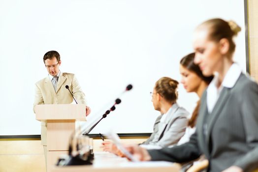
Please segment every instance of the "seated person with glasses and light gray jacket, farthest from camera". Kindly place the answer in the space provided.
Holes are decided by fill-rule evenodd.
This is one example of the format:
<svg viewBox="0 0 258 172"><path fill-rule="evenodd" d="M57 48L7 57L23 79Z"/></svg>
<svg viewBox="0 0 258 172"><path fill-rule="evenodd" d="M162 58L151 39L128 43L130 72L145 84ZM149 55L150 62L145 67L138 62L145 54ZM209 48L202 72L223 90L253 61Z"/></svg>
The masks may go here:
<svg viewBox="0 0 258 172"><path fill-rule="evenodd" d="M176 103L178 84L176 80L162 77L156 82L153 91L150 92L153 107L161 115L154 123L154 132L148 140L141 144L142 147L159 149L172 146L178 143L185 134L189 113ZM104 151L123 156L123 153L109 141L104 141L102 147Z"/></svg>

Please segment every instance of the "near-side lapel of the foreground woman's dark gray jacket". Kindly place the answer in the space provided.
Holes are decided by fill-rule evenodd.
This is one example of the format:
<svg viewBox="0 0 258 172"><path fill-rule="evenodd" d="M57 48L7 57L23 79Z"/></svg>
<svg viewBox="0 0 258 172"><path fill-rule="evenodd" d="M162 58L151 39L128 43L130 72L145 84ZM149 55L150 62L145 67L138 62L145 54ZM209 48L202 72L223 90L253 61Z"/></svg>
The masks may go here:
<svg viewBox="0 0 258 172"><path fill-rule="evenodd" d="M224 105L226 104L226 101L229 97L230 94L230 89L223 87L220 97L217 100L211 114L209 114L208 119L207 119L207 143L210 141L210 134L211 134L211 129L216 121L216 119L219 117L221 114L222 109L224 108ZM209 145L209 144L207 144Z"/></svg>

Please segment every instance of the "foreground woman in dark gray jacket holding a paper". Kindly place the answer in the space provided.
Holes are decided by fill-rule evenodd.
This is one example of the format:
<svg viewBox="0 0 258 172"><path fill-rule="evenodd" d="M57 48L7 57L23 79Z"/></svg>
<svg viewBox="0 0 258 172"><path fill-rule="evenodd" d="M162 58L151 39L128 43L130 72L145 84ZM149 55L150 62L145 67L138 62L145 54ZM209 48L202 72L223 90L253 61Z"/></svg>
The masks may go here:
<svg viewBox="0 0 258 172"><path fill-rule="evenodd" d="M194 63L214 78L203 92L196 131L188 143L146 150L129 146L142 161L184 163L201 154L208 172L252 172L258 168L258 84L233 61L234 36L240 27L211 19L194 31Z"/></svg>

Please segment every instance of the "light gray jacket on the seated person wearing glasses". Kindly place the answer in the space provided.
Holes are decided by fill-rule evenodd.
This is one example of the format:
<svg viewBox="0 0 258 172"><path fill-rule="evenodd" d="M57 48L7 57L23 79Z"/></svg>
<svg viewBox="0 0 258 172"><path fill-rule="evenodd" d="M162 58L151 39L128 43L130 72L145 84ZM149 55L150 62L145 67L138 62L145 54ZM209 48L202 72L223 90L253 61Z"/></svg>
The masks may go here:
<svg viewBox="0 0 258 172"><path fill-rule="evenodd" d="M164 125L161 126L160 115L154 125L154 133L143 144L153 144L165 147L177 143L185 134L188 124L189 113L177 103L173 104L169 114L164 119ZM162 135L162 136L161 136Z"/></svg>

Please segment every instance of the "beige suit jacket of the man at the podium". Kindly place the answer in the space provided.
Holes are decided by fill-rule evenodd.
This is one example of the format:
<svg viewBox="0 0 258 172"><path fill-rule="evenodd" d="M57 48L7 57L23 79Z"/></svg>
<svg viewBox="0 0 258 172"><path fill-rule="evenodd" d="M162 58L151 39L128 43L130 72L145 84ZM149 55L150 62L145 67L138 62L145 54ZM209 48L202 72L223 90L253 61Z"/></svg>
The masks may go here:
<svg viewBox="0 0 258 172"><path fill-rule="evenodd" d="M35 98L33 111L35 113L35 105L38 104L70 104L73 98L65 86L69 86L70 91L78 104L85 104L85 95L79 86L78 80L74 74L62 73L58 79L57 91L55 91L49 77L38 81L35 84ZM47 145L46 140L47 123L41 122L41 143Z"/></svg>

